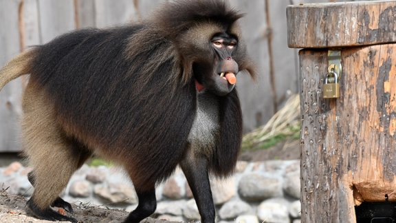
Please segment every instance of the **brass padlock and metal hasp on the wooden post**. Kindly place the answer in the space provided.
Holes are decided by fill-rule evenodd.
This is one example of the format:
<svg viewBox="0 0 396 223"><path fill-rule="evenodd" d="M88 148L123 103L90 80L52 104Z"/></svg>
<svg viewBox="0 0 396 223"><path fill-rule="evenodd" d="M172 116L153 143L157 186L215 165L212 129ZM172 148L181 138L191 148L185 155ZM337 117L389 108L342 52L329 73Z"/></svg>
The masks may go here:
<svg viewBox="0 0 396 223"><path fill-rule="evenodd" d="M340 97L340 77L342 73L341 50L329 50L329 67L323 84L323 98Z"/></svg>

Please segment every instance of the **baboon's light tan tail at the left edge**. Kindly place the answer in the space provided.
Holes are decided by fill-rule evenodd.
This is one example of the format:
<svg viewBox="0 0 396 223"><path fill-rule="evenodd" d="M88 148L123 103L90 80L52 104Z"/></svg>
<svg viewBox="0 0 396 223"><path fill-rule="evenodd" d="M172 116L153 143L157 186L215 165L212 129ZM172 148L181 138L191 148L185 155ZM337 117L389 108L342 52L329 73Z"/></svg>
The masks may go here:
<svg viewBox="0 0 396 223"><path fill-rule="evenodd" d="M0 90L8 82L14 80L15 78L22 76L23 74L30 73L30 63L34 59L34 53L36 50L27 50L17 57L8 62L0 70Z"/></svg>

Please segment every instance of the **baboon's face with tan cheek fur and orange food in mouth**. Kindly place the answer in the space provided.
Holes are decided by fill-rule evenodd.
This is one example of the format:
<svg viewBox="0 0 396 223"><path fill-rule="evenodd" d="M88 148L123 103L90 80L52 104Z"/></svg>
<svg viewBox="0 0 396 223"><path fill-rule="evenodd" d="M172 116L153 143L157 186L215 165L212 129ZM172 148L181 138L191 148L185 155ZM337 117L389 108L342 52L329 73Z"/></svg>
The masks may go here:
<svg viewBox="0 0 396 223"><path fill-rule="evenodd" d="M232 92L237 74L246 69L245 47L239 36L236 23L224 26L213 22L200 23L180 35L179 52L185 61L192 63L198 92L208 91L218 96Z"/></svg>

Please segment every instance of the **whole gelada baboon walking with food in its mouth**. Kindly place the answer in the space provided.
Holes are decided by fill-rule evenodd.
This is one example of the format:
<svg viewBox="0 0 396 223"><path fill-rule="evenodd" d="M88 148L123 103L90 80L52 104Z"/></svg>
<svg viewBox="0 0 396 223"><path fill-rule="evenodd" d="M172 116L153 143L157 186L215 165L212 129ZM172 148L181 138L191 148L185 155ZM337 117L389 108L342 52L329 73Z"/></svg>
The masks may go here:
<svg viewBox="0 0 396 223"><path fill-rule="evenodd" d="M25 153L34 167L27 209L44 220L72 217L58 197L92 154L117 162L139 204L126 222L155 211L155 186L177 165L202 222L214 222L208 174L232 173L241 144L236 76L254 68L223 1L172 1L140 23L70 32L0 70L0 88L30 74L23 96Z"/></svg>

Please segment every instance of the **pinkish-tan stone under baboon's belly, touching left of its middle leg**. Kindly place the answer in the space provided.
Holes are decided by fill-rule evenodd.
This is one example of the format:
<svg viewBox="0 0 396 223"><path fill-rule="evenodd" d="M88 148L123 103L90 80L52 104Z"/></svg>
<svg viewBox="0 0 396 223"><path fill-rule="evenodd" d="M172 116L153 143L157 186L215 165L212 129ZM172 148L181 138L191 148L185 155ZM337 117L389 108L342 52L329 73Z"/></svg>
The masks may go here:
<svg viewBox="0 0 396 223"><path fill-rule="evenodd" d="M122 183L109 184L108 186L96 185L94 193L99 198L109 200L113 203L137 203L135 189Z"/></svg>

